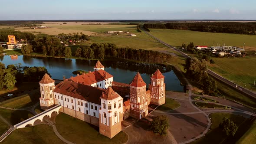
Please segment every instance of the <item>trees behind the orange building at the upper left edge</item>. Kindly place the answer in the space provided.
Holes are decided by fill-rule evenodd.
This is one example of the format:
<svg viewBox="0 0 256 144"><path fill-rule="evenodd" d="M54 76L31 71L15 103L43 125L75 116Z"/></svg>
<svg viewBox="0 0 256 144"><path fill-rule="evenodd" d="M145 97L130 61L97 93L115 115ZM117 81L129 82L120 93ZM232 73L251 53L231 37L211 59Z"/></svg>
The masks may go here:
<svg viewBox="0 0 256 144"><path fill-rule="evenodd" d="M16 40L26 39L28 41L33 40L36 36L33 33L15 31L13 29L0 29L0 42L7 42L8 35L14 35Z"/></svg>

